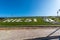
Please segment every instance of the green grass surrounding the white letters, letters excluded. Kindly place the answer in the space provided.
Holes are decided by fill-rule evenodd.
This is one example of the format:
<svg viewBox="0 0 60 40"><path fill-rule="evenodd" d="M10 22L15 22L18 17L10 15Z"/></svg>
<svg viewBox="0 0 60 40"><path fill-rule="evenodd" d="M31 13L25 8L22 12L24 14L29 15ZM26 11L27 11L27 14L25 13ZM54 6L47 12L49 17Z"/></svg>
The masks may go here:
<svg viewBox="0 0 60 40"><path fill-rule="evenodd" d="M0 20L0 26L21 26L21 25L59 25L59 24L53 24L53 23L49 23L49 22L45 22L43 19L43 17L13 17L12 19L23 19L25 20L26 18L30 18L30 19L33 19L33 18L36 18L37 19L37 22L3 22L4 20L6 19L11 19L11 18L5 18L3 20ZM57 18L54 18L54 17L48 17L48 18L51 18L53 20L57 20ZM60 17L58 17L58 22L60 22Z"/></svg>

